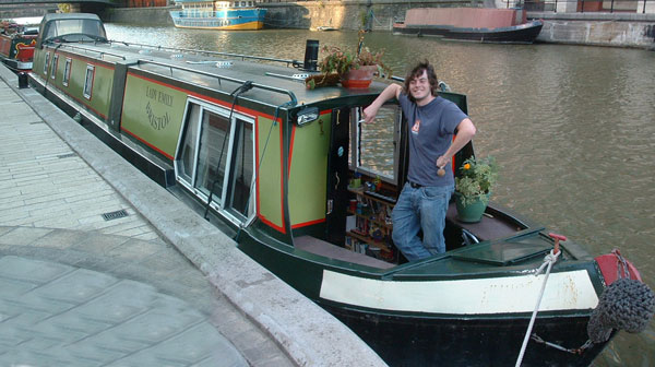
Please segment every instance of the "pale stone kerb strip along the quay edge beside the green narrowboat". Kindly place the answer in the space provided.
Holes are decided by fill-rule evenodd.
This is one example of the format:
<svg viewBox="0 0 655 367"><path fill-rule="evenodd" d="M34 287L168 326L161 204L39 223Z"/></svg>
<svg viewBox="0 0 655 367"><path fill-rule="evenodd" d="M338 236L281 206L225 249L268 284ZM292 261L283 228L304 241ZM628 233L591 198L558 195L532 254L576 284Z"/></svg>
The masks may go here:
<svg viewBox="0 0 655 367"><path fill-rule="evenodd" d="M385 366L352 330L236 248L236 242L17 78L0 78L94 170L300 366ZM126 179L129 178L129 179Z"/></svg>

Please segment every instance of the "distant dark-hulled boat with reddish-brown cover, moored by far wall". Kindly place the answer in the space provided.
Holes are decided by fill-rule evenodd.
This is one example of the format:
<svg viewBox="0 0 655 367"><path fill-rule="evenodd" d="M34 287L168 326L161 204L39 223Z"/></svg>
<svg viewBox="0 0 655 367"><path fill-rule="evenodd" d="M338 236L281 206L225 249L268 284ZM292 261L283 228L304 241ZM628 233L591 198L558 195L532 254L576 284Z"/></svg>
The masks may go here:
<svg viewBox="0 0 655 367"><path fill-rule="evenodd" d="M449 40L532 44L544 22L527 22L522 9L417 8L393 25L395 35L436 36Z"/></svg>

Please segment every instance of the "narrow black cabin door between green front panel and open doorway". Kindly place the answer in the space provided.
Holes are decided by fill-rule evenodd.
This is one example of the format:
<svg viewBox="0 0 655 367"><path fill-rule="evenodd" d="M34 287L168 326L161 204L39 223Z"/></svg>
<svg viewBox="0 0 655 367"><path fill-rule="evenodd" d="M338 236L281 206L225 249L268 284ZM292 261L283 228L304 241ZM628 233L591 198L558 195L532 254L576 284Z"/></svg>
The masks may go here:
<svg viewBox="0 0 655 367"><path fill-rule="evenodd" d="M348 205L348 144L350 109L332 110L330 151L327 153L327 213L325 238L344 246L346 237L346 206Z"/></svg>

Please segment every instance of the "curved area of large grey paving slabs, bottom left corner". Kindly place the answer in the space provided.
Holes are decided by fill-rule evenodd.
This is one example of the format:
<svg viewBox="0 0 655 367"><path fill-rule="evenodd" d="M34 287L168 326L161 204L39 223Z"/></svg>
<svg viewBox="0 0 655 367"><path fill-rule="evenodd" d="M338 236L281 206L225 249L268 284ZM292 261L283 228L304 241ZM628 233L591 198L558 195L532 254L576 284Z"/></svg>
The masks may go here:
<svg viewBox="0 0 655 367"><path fill-rule="evenodd" d="M0 284L35 285L17 299L0 288L2 303L20 308L0 321L0 341L14 344L0 350L2 365L129 365L138 354L150 366L248 366L204 315L147 284L14 256L0 258ZM34 269L46 273L35 276Z"/></svg>

